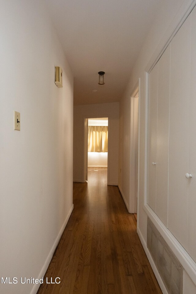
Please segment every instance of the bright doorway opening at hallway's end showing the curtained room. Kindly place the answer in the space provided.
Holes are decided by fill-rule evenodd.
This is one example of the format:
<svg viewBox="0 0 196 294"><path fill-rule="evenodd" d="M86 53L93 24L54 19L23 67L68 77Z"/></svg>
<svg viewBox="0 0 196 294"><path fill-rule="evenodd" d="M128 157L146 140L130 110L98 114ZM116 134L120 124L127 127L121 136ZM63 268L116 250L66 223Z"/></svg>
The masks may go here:
<svg viewBox="0 0 196 294"><path fill-rule="evenodd" d="M85 179L95 179L93 174L107 175L108 171L108 118L85 119ZM90 175L90 177L88 176ZM101 177L96 179L101 180ZM105 179L107 183L107 179Z"/></svg>

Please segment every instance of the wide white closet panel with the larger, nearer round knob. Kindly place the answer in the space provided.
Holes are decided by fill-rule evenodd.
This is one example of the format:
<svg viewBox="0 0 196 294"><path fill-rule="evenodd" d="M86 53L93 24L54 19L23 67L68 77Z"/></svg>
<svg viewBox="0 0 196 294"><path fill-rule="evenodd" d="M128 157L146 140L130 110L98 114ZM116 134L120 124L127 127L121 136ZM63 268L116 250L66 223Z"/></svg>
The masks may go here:
<svg viewBox="0 0 196 294"><path fill-rule="evenodd" d="M168 228L187 248L190 16L171 41Z"/></svg>

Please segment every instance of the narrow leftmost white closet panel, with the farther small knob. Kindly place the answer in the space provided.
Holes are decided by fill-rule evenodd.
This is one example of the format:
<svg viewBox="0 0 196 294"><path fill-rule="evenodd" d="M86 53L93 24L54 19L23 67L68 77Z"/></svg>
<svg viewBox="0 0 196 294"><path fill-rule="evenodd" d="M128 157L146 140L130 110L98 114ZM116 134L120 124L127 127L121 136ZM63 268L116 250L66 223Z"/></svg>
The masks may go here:
<svg viewBox="0 0 196 294"><path fill-rule="evenodd" d="M158 63L149 74L147 203L156 210L156 134Z"/></svg>

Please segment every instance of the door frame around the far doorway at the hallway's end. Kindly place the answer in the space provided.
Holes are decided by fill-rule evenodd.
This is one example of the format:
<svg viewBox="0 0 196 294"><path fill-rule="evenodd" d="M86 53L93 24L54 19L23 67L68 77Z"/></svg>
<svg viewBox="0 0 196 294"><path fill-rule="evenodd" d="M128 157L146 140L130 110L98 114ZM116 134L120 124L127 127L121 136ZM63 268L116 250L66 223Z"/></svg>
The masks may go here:
<svg viewBox="0 0 196 294"><path fill-rule="evenodd" d="M85 183L88 179L88 123L86 121L88 119L95 118L108 118L108 147L107 147L107 185L110 185L110 117L109 115L90 115L83 116L83 150L82 150L82 183Z"/></svg>

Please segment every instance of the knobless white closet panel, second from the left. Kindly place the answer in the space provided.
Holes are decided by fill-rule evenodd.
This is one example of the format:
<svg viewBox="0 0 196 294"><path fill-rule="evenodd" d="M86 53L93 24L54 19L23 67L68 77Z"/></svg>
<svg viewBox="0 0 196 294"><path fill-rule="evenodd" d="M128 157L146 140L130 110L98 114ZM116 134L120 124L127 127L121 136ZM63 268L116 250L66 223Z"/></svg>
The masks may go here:
<svg viewBox="0 0 196 294"><path fill-rule="evenodd" d="M168 148L170 45L159 60L156 154L156 214L167 226L168 221Z"/></svg>

